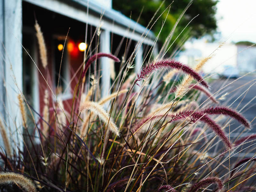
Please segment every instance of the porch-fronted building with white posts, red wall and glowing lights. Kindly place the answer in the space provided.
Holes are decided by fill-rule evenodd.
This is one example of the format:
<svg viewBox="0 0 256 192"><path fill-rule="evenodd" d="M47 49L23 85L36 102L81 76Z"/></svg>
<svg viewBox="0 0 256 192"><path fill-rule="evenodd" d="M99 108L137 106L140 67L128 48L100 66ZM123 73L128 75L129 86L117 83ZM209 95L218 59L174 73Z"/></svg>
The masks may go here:
<svg viewBox="0 0 256 192"><path fill-rule="evenodd" d="M1 78L2 104L0 112L10 132L22 131L18 113L17 95L22 92L33 110L42 113L44 90L48 84L68 110L72 101L79 68L84 61L84 51L112 53L124 56L125 42L131 42L129 57L136 50L134 59L137 70L143 62L143 50L155 45L151 31L112 9L111 0L3 0L0 4ZM47 48L47 69L40 60L35 21L41 27ZM95 35L100 28L100 36ZM68 32L69 31L69 32ZM62 67L60 61L65 38ZM95 38L93 38L95 36ZM93 39L93 40L92 40ZM87 47L91 44L90 47ZM62 48L61 48L62 46ZM157 46L154 49L157 52ZM130 55L129 55L130 54ZM110 68L107 58L100 59L102 95L108 95ZM115 65L118 69L118 65ZM79 73L78 73L79 72ZM60 73L60 79L58 79ZM50 75L47 75L50 74ZM46 83L47 82L47 83ZM57 90L59 82L60 89ZM37 115L38 115L37 114ZM35 118L38 118L38 116Z"/></svg>

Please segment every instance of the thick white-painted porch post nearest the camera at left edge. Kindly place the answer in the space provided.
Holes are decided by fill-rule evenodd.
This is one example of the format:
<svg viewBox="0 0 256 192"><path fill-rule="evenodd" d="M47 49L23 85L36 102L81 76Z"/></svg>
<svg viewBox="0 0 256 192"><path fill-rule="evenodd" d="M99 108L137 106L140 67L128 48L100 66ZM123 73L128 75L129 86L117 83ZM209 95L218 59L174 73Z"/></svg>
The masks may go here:
<svg viewBox="0 0 256 192"><path fill-rule="evenodd" d="M18 107L18 94L22 92L22 1L21 0L3 0L3 43L4 43L4 71L5 73L5 90L4 103L7 111L5 113L5 121L11 129L13 138L16 144L20 144L22 148L22 141L20 134L22 134L22 123L20 118L20 109ZM16 86L15 82L18 87ZM14 123L13 123L14 121ZM18 127L20 133L16 129ZM9 134L8 128L6 128ZM14 146L15 147L15 146Z"/></svg>

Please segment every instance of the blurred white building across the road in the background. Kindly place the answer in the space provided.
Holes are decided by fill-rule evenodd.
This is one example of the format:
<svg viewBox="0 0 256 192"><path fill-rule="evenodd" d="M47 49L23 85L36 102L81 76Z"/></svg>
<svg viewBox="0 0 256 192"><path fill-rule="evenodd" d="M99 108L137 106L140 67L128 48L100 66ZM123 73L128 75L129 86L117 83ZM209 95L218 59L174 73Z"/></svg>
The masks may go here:
<svg viewBox="0 0 256 192"><path fill-rule="evenodd" d="M221 46L220 46L221 45ZM202 40L187 42L179 60L194 65L197 60L212 55L203 67L205 74L222 74L227 68L236 68L240 75L256 70L256 47L234 43L207 43Z"/></svg>

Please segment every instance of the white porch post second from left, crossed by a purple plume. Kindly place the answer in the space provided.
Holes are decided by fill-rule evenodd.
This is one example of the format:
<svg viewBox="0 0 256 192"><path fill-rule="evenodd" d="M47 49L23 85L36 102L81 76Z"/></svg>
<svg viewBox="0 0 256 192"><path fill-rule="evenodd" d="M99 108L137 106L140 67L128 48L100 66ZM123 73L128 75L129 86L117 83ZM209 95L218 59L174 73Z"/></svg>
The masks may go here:
<svg viewBox="0 0 256 192"><path fill-rule="evenodd" d="M100 33L100 52L110 53L110 31L102 30ZM110 59L102 57L100 59L101 66L101 96L105 97L109 94L110 88ZM105 106L108 106L109 102Z"/></svg>

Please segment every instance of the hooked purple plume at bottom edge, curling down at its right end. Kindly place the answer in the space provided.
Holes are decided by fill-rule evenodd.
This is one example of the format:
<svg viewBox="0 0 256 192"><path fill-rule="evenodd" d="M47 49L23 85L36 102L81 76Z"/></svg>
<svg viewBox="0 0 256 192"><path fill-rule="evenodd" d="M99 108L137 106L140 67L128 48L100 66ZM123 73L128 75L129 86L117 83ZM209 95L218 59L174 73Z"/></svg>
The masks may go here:
<svg viewBox="0 0 256 192"><path fill-rule="evenodd" d="M197 183L192 185L189 192L196 192L196 191L198 191L198 189L200 189L202 187L205 187L205 186L208 186L208 185L213 184L213 183L217 184L219 190L222 190L223 183L219 178L217 178L217 177L208 177L208 178L205 178L205 179L201 179L200 181L198 181Z"/></svg>

